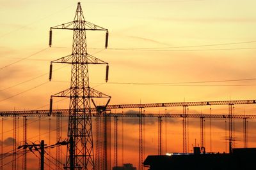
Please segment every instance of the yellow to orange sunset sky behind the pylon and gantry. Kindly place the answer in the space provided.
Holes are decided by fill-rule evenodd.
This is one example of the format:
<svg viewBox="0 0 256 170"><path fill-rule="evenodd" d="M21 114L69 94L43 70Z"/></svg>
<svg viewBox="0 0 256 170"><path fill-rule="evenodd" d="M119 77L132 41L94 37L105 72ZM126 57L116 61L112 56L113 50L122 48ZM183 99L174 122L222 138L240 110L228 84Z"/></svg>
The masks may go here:
<svg viewBox="0 0 256 170"><path fill-rule="evenodd" d="M256 98L255 1L99 0L81 1L81 5L88 22L109 30L108 49L104 49L104 31L86 32L86 36L88 53L109 63L108 83L104 81L106 67L90 66L89 72L91 87L111 96L110 104ZM67 0L1 0L1 111L49 109L49 97L69 87L69 65L54 64L52 81L48 78L50 62L71 53L72 31L53 30L49 48L49 28L72 21L76 6L77 1ZM68 99L54 102L54 109L68 108ZM165 113L164 109L145 109L145 113ZM167 112L182 113L182 108L167 108ZM236 114L254 112L255 106L235 106ZM189 113L209 113L209 106L191 107ZM212 113L228 113L228 107L212 106ZM52 121L54 129L55 119ZM136 121L124 121L124 163L135 166L138 161L133 157L138 153L131 148L138 147ZM209 122L205 121L205 145L209 146ZM249 128L253 122L250 120ZM12 118L6 118L4 139L12 137L12 125L7 124L12 124ZM42 133L48 131L47 118L43 124ZM182 152L182 121L170 119L167 125L164 152ZM243 147L243 122L236 125L236 145ZM225 120L213 120L212 126L212 152L226 151ZM31 127L35 129L28 132L30 138L38 126L31 123ZM195 139L200 141L198 127L199 120L191 120L190 150ZM148 120L145 128L145 155L157 154L157 119ZM19 130L22 138L22 127ZM248 135L249 146L255 147L252 128ZM47 134L42 138L49 139ZM10 150L6 146L6 152Z"/></svg>

